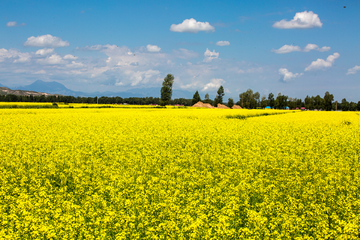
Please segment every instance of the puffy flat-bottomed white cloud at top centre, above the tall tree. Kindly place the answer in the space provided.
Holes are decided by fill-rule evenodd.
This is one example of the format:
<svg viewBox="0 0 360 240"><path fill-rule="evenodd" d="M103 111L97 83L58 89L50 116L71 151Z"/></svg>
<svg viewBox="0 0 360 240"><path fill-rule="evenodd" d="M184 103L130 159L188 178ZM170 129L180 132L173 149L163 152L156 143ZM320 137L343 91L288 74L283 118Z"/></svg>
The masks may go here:
<svg viewBox="0 0 360 240"><path fill-rule="evenodd" d="M214 32L215 28L208 22L197 22L195 19L185 19L180 24L172 24L170 31L198 33L199 31Z"/></svg>

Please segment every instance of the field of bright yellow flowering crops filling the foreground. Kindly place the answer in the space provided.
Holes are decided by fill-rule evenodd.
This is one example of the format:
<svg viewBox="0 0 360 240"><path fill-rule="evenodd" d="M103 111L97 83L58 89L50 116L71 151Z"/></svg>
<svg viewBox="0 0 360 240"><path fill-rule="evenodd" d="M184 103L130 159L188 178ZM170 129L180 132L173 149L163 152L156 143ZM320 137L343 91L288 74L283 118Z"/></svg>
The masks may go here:
<svg viewBox="0 0 360 240"><path fill-rule="evenodd" d="M0 239L359 239L359 112L284 112L0 109Z"/></svg>

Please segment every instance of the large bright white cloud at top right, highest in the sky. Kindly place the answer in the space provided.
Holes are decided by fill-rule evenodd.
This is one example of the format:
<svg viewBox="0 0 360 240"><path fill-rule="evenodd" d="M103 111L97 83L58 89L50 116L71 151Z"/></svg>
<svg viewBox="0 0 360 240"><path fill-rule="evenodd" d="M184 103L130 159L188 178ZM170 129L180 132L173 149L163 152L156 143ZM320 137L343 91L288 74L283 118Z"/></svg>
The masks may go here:
<svg viewBox="0 0 360 240"><path fill-rule="evenodd" d="M298 12L290 21L285 19L273 24L274 28L292 29L292 28L314 28L322 27L322 22L317 14L312 11Z"/></svg>

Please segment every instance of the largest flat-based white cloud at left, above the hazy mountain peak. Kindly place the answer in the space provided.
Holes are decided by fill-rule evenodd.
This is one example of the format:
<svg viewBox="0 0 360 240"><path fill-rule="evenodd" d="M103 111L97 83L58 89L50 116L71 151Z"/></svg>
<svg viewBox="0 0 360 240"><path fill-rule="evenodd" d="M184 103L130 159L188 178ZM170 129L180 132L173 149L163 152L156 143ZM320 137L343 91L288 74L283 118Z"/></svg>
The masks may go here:
<svg viewBox="0 0 360 240"><path fill-rule="evenodd" d="M29 37L24 46L26 47L67 47L70 43L68 41L63 41L59 37L51 36L50 34Z"/></svg>

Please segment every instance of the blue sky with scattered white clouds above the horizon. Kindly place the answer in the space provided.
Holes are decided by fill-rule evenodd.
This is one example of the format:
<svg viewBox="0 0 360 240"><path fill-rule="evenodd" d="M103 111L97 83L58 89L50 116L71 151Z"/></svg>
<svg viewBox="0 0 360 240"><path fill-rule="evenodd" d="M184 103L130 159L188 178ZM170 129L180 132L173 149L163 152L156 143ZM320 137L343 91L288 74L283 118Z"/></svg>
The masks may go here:
<svg viewBox="0 0 360 240"><path fill-rule="evenodd" d="M360 100L359 1L6 1L0 83Z"/></svg>

